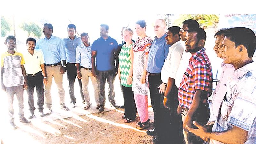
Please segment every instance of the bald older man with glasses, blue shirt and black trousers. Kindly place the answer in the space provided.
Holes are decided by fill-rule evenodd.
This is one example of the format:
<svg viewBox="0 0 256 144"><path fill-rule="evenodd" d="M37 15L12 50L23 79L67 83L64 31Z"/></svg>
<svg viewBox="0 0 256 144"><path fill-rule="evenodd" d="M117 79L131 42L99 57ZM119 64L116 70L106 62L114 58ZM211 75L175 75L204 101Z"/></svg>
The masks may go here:
<svg viewBox="0 0 256 144"><path fill-rule="evenodd" d="M154 111L155 129L148 130L148 135L158 135L154 138L154 142L164 142L168 138L168 130L170 127L170 113L169 109L163 105L163 91L165 85L161 81L161 69L164 65L170 45L166 44L166 22L163 19L157 19L154 25L154 32L156 34L149 54L148 54L148 82L151 104ZM160 88L158 90L158 88Z"/></svg>

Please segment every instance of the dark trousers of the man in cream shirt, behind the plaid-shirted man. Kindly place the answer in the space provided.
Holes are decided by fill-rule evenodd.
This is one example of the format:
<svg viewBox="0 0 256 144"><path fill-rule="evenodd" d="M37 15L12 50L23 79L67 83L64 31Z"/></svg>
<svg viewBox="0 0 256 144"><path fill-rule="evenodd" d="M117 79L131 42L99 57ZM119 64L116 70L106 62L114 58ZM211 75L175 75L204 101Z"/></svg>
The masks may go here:
<svg viewBox="0 0 256 144"><path fill-rule="evenodd" d="M183 123L181 115L177 114L177 107L179 105L178 101L178 88L173 84L172 90L167 96L168 98L168 108L170 110L171 116L171 130L169 133L171 144L183 144Z"/></svg>

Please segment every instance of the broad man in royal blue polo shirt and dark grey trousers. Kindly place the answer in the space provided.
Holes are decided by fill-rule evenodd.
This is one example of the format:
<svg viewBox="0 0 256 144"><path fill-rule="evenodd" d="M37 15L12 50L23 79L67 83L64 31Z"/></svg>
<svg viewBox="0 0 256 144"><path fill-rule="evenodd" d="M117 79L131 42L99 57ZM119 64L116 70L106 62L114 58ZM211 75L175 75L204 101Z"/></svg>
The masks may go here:
<svg viewBox="0 0 256 144"><path fill-rule="evenodd" d="M95 40L92 44L92 74L96 76L97 83L99 87L99 101L100 107L99 111L104 111L104 105L106 101L105 97L105 83L106 79L108 82L108 100L111 105L115 108L118 106L115 102L115 92L114 92L114 81L117 75L118 60L117 49L118 43L115 39L108 36L109 26L106 24L100 25L100 38ZM96 67L95 67L96 58Z"/></svg>

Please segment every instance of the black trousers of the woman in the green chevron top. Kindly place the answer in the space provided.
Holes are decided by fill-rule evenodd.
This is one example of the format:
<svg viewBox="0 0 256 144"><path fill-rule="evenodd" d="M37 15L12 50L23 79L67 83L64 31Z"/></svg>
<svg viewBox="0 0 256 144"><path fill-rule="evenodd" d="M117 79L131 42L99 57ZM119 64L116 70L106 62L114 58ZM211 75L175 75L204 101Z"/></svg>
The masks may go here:
<svg viewBox="0 0 256 144"><path fill-rule="evenodd" d="M135 105L132 87L122 86L122 90L124 96L124 115L129 119L135 119L137 108Z"/></svg>

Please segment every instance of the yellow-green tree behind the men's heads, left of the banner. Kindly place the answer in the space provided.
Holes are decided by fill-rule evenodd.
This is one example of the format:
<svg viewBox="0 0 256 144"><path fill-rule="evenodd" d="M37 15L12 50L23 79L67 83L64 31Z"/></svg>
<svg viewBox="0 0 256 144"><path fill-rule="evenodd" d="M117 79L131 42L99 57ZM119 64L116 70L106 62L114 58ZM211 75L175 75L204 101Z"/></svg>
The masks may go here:
<svg viewBox="0 0 256 144"><path fill-rule="evenodd" d="M219 16L215 14L184 14L179 19L174 20L174 25L180 26L184 20L194 19L201 28L214 27L219 23Z"/></svg>

